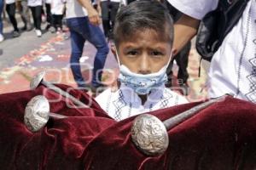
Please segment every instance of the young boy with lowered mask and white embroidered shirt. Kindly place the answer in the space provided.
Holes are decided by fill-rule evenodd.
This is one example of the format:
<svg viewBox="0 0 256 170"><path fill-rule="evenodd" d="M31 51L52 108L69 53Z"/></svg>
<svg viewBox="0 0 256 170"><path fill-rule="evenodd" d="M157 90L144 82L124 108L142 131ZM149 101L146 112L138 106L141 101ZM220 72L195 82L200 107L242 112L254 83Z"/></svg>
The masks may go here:
<svg viewBox="0 0 256 170"><path fill-rule="evenodd" d="M120 121L129 116L187 103L165 88L172 58L173 23L156 1L136 1L116 16L113 38L119 65L119 89L96 97L102 109Z"/></svg>

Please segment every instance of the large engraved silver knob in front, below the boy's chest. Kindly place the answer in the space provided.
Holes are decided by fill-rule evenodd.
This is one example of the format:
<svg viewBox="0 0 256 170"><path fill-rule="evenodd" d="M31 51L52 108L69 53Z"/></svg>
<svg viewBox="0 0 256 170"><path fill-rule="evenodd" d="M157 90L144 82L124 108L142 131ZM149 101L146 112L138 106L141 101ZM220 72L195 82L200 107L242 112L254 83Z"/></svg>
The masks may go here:
<svg viewBox="0 0 256 170"><path fill-rule="evenodd" d="M139 150L149 156L164 153L169 144L166 127L157 117L137 116L131 127L131 139Z"/></svg>

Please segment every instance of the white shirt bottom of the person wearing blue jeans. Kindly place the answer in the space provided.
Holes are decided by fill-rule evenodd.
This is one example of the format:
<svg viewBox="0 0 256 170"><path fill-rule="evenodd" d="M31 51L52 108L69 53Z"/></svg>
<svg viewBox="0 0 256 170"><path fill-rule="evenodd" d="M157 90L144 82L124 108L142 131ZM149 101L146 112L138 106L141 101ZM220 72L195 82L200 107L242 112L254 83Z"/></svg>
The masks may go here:
<svg viewBox="0 0 256 170"><path fill-rule="evenodd" d="M77 18L87 16L87 11L78 0L67 0L66 18Z"/></svg>

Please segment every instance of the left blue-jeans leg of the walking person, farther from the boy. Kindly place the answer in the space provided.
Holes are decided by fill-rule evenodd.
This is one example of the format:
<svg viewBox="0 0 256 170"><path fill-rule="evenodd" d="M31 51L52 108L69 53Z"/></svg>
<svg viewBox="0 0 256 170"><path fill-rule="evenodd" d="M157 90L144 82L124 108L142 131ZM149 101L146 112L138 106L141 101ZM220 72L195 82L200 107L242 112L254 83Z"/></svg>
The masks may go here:
<svg viewBox="0 0 256 170"><path fill-rule="evenodd" d="M73 78L77 82L79 87L84 87L85 82L82 77L81 67L79 59L83 54L84 49L84 37L80 34L80 24L76 19L67 19L67 26L70 31L71 39L71 57L70 57L70 67L73 73Z"/></svg>

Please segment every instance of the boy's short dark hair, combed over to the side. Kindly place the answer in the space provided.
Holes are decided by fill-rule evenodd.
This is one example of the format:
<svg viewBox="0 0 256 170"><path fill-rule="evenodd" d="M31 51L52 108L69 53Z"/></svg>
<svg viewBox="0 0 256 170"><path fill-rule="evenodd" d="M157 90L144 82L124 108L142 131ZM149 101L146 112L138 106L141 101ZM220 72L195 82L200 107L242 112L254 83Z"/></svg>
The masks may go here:
<svg viewBox="0 0 256 170"><path fill-rule="evenodd" d="M137 31L154 30L161 40L173 42L173 21L169 11L157 1L135 1L120 8L113 28L113 40L131 38Z"/></svg>

